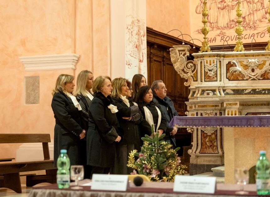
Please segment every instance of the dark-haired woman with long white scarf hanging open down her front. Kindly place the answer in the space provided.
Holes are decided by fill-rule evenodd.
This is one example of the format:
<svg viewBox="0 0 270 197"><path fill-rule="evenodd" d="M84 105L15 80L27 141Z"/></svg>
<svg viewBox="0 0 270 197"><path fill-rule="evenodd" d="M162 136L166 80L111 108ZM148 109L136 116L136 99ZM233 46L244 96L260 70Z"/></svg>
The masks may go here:
<svg viewBox="0 0 270 197"><path fill-rule="evenodd" d="M139 109L143 114L143 122L140 124L141 135L151 135L151 127L154 125L155 134L159 136L167 129L167 120L160 106L153 101L153 91L150 86L142 86L137 95Z"/></svg>

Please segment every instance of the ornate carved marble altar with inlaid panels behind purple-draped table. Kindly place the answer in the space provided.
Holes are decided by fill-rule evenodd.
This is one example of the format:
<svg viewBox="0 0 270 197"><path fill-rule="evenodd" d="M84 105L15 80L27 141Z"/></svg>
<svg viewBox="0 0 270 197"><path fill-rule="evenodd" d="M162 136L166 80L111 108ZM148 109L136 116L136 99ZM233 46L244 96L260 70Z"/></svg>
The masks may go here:
<svg viewBox="0 0 270 197"><path fill-rule="evenodd" d="M180 51L181 49L181 51ZM270 51L193 53L174 46L171 60L181 77L188 79L187 116L238 116L270 112ZM192 65L193 70L185 69ZM191 67L190 67L191 68ZM196 71L196 72L194 72ZM194 80L196 76L196 80ZM224 165L224 128L191 128L190 162Z"/></svg>

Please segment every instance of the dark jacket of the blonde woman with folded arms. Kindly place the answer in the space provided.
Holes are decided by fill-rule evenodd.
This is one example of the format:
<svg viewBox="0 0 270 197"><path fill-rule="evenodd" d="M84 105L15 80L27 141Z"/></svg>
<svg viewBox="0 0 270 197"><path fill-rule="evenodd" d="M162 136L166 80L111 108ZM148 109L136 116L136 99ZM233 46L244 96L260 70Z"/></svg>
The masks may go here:
<svg viewBox="0 0 270 197"><path fill-rule="evenodd" d="M143 121L143 116L139 108L137 106L135 107L132 101L129 101L130 107L127 107L127 105L122 101L122 99L118 99L115 97L112 97L112 99L117 106L118 112L116 113L116 116L119 125L123 130L123 140L119 143L119 145L140 145L141 137L138 124ZM132 117L132 119L129 121L123 119L122 117Z"/></svg>

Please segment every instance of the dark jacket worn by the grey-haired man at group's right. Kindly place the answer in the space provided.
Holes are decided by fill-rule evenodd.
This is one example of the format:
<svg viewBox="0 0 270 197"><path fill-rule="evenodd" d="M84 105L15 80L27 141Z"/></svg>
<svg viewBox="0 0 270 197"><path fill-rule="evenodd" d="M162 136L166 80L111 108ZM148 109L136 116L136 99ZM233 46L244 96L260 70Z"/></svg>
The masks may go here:
<svg viewBox="0 0 270 197"><path fill-rule="evenodd" d="M173 117L178 116L178 112L176 111L172 100L167 96L164 98L164 100L162 100L156 94L154 94L154 101L159 104L161 111L163 112L167 120L166 136L164 140L170 141L172 145L176 146L176 140L174 135L170 135L170 132L173 129L173 127L170 127L170 121Z"/></svg>

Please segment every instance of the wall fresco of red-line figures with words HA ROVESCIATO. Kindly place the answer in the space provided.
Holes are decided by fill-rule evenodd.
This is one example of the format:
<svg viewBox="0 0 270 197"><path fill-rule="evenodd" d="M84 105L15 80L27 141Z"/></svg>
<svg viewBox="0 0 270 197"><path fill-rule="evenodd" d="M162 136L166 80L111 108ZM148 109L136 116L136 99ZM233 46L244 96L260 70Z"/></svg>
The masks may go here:
<svg viewBox="0 0 270 197"><path fill-rule="evenodd" d="M237 40L235 33L236 8L238 0L207 0L209 45L234 44ZM267 32L268 0L241 0L242 19L241 26L244 32L241 35L244 43L265 42L269 38ZM203 41L201 28L203 0L192 0L191 8L191 34L192 38ZM195 42L195 41L194 41ZM201 45L199 41L196 44Z"/></svg>

